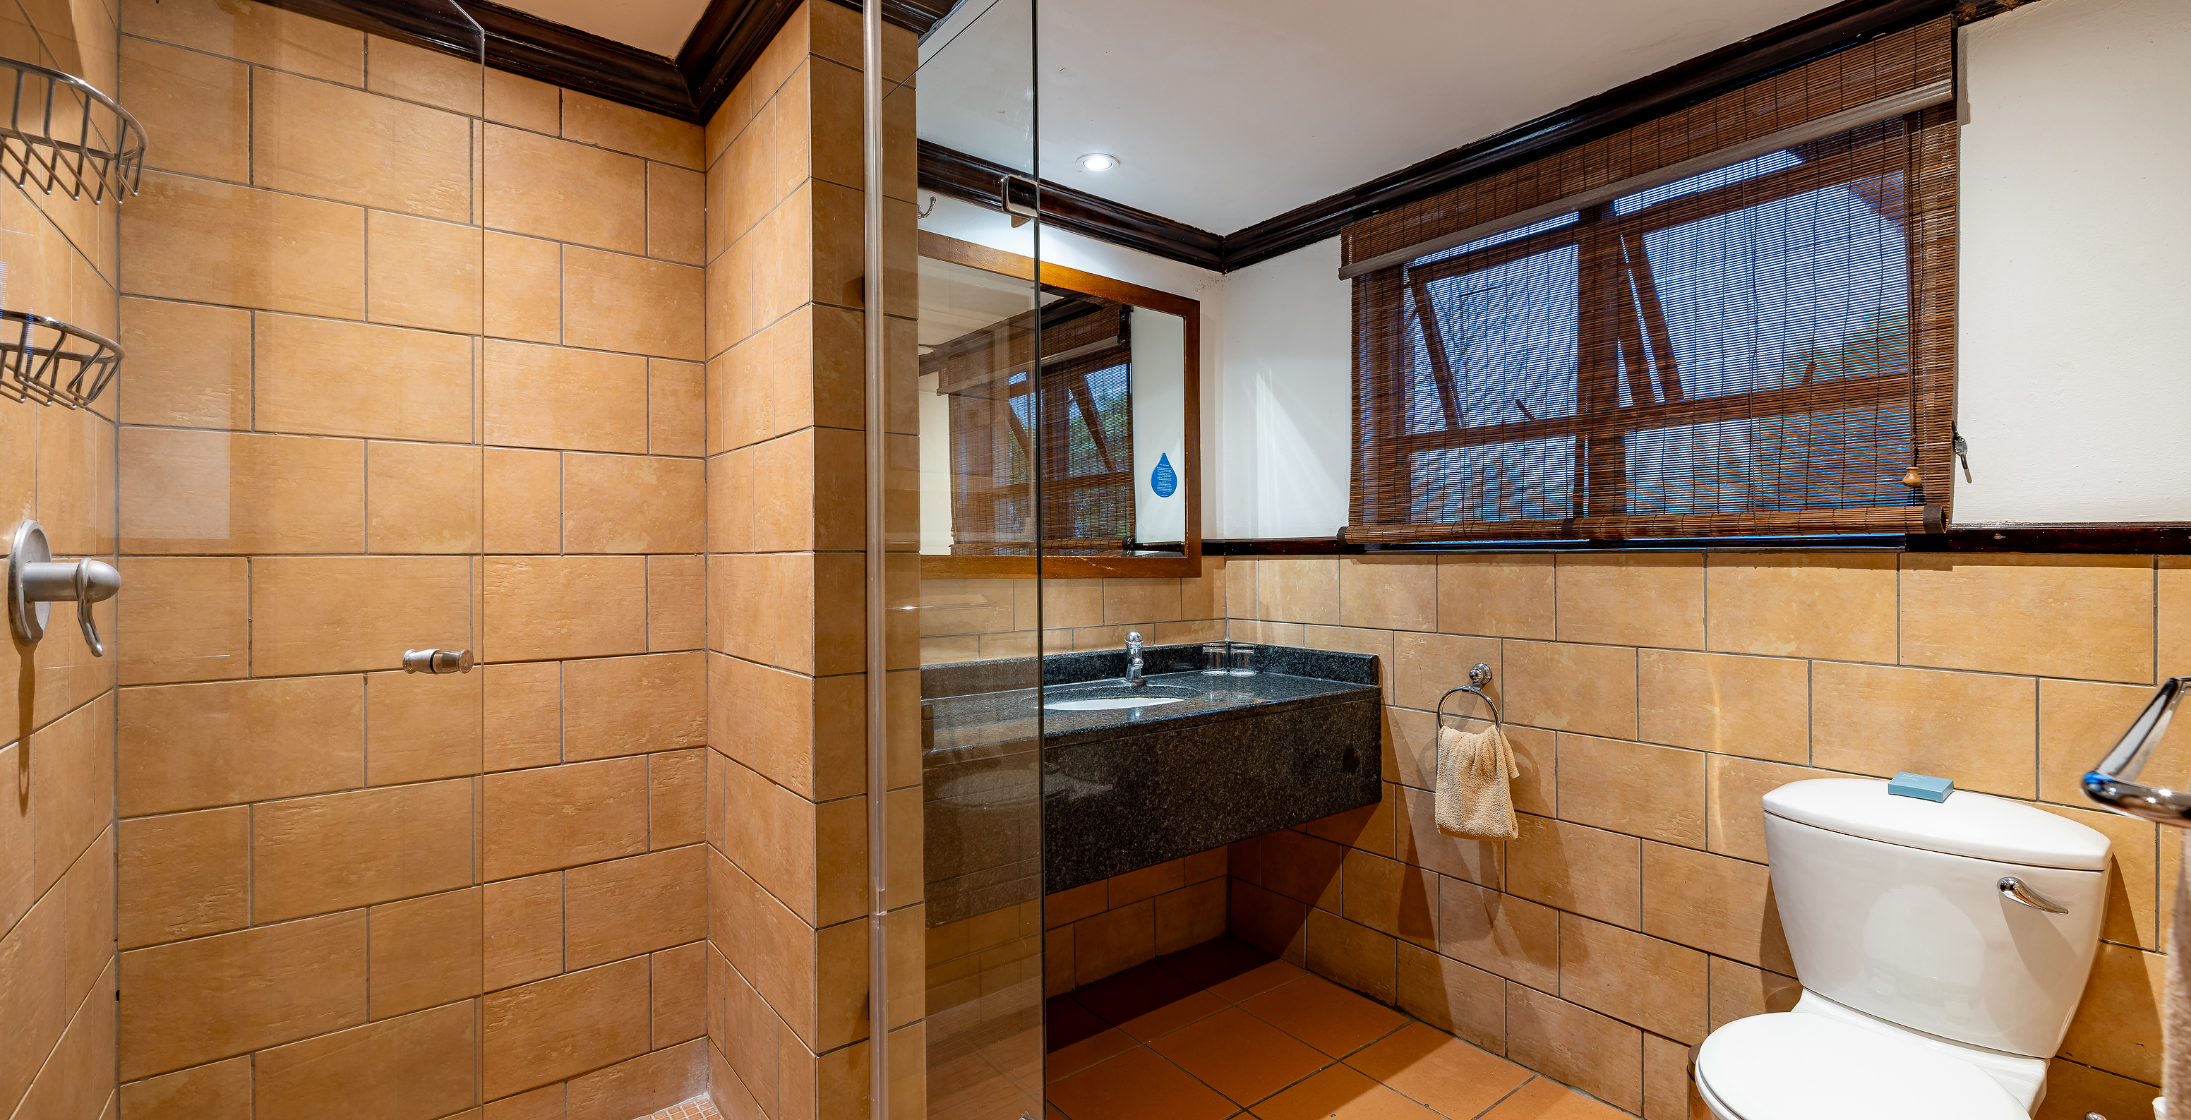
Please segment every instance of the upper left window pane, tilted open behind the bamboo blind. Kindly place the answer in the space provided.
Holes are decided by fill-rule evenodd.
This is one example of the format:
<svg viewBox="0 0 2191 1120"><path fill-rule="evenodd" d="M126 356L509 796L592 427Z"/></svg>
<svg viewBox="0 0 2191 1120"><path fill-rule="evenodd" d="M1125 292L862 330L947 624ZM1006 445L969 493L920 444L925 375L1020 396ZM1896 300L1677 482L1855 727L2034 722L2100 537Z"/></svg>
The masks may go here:
<svg viewBox="0 0 2191 1120"><path fill-rule="evenodd" d="M1424 285L1437 318L1459 414L1450 427L1485 427L1575 414L1575 245ZM1420 322L1418 322L1420 327ZM1411 331L1407 381L1411 434L1444 432L1446 403L1429 340Z"/></svg>

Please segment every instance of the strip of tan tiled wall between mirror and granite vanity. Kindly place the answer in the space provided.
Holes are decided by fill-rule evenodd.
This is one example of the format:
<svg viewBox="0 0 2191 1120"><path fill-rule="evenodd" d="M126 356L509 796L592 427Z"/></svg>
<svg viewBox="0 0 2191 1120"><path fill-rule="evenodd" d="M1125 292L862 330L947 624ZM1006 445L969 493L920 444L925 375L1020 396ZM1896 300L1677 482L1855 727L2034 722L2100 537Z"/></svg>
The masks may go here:
<svg viewBox="0 0 2191 1120"><path fill-rule="evenodd" d="M1225 638L1225 559L1203 557L1203 574L1192 579L920 581L920 664L1032 658L1036 633L1043 653L1122 649L1126 631L1142 631L1148 644Z"/></svg>

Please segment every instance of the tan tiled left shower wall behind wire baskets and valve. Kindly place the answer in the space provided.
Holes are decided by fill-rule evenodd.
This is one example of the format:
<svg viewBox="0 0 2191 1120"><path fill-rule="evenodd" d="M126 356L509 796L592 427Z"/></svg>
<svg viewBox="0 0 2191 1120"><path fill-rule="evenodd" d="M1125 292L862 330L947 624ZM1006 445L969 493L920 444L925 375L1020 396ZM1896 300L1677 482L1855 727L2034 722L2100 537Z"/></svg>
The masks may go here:
<svg viewBox="0 0 2191 1120"><path fill-rule="evenodd" d="M7 4L0 55L112 90L114 11ZM114 210L0 184L0 305L114 338ZM55 559L114 563L114 401L0 399L0 552L37 519ZM72 603L35 647L0 644L0 1116L114 1109L114 601L92 616L105 658Z"/></svg>

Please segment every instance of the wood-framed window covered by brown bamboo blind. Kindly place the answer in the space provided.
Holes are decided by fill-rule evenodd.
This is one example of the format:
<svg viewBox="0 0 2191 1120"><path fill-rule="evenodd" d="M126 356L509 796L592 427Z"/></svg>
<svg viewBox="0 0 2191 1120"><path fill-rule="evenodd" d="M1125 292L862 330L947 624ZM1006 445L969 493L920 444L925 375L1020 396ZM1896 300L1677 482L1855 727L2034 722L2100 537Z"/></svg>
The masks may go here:
<svg viewBox="0 0 2191 1120"><path fill-rule="evenodd" d="M1946 20L1345 230L1347 541L1939 526Z"/></svg>

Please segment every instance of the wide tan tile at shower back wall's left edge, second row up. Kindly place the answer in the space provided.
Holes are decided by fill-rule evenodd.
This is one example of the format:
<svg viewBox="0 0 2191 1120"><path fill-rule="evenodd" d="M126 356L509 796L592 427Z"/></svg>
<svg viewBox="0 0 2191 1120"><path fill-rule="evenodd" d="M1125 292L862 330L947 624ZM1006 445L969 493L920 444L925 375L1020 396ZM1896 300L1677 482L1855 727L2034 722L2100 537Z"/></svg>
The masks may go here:
<svg viewBox="0 0 2191 1120"><path fill-rule="evenodd" d="M164 1074L366 1019L366 912L123 953L121 1076Z"/></svg>

